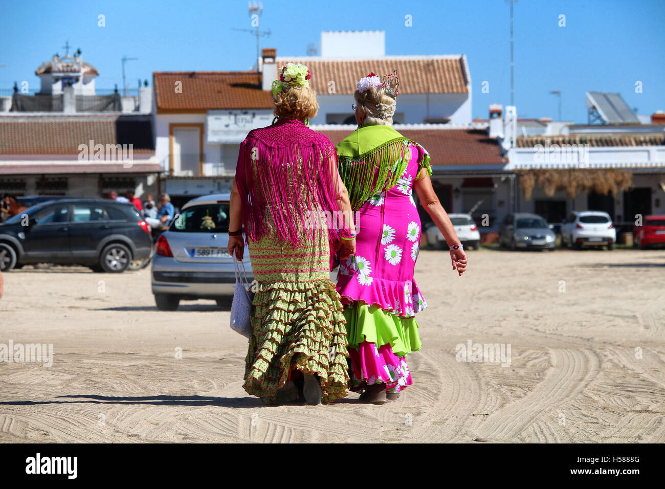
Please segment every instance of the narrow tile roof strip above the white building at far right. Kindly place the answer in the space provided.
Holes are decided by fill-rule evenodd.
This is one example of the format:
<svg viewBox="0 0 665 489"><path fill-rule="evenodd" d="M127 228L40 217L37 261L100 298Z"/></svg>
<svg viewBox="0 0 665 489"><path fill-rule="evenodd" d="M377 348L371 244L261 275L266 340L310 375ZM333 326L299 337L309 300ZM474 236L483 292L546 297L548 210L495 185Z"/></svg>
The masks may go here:
<svg viewBox="0 0 665 489"><path fill-rule="evenodd" d="M517 148L533 148L536 144L589 144L599 146L664 146L665 133L660 134L571 134L568 136L517 136Z"/></svg>

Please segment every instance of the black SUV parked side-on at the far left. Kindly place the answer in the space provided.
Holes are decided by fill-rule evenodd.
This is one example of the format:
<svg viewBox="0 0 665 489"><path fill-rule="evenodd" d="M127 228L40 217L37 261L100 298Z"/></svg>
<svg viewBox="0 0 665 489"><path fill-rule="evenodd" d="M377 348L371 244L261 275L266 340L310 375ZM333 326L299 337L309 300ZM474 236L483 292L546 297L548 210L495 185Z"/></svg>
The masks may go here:
<svg viewBox="0 0 665 489"><path fill-rule="evenodd" d="M150 225L132 204L100 198L41 202L0 224L0 271L27 263L120 273L152 257Z"/></svg>

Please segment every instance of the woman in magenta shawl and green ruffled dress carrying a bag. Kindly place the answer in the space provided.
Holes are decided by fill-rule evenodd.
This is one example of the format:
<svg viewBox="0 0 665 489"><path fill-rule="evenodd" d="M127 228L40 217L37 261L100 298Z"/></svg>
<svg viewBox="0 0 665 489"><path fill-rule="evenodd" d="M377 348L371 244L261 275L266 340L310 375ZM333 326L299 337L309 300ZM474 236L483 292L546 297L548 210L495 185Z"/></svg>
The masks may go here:
<svg viewBox="0 0 665 489"><path fill-rule="evenodd" d="M259 285L243 388L267 404L348 393L345 320L329 273L331 250L353 255L354 232L334 146L305 124L319 109L309 79L304 65L283 67L277 122L241 144L231 193L229 253L242 259L244 234ZM343 212L342 230L322 221Z"/></svg>

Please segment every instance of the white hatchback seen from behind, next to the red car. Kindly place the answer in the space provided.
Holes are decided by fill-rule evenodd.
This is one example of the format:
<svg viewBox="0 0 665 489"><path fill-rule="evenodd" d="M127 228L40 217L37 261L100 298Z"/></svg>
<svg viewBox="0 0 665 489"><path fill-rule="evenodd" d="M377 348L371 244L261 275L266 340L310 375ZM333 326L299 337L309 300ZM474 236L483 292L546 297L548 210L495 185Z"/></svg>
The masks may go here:
<svg viewBox="0 0 665 489"><path fill-rule="evenodd" d="M610 215L597 210L573 211L561 226L561 246L614 249L616 229Z"/></svg>

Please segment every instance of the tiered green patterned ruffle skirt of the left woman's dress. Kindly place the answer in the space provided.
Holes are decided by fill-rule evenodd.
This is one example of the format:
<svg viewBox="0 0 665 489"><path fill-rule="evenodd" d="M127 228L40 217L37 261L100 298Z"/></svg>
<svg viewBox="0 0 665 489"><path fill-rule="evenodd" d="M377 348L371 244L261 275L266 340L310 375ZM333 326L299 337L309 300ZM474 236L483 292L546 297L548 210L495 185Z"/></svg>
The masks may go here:
<svg viewBox="0 0 665 489"><path fill-rule="evenodd" d="M328 279L259 282L245 358L247 393L273 404L297 369L319 376L324 403L348 394L346 321L334 287Z"/></svg>

